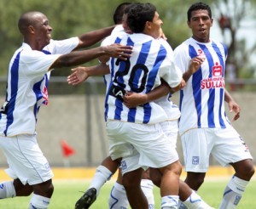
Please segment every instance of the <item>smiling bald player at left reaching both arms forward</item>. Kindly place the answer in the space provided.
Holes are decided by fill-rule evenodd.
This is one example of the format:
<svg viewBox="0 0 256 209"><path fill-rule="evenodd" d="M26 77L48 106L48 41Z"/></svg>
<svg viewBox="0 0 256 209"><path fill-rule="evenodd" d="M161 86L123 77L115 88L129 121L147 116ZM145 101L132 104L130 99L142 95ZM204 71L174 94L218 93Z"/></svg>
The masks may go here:
<svg viewBox="0 0 256 209"><path fill-rule="evenodd" d="M54 191L53 173L38 146L36 122L40 105L48 104L49 72L105 54L126 59L132 50L112 45L72 52L100 41L113 27L54 41L48 18L36 11L22 14L18 26L23 43L10 60L6 100L0 111L0 148L9 163L6 172L14 180L1 184L0 199L33 193L29 208L44 209Z"/></svg>

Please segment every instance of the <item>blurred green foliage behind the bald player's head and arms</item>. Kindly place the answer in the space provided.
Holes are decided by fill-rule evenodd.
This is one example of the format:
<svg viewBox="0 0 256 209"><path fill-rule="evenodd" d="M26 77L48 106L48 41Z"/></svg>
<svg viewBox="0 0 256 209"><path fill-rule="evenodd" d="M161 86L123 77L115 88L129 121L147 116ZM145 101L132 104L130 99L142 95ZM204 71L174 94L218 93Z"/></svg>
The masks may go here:
<svg viewBox="0 0 256 209"><path fill-rule="evenodd" d="M49 18L49 25L53 27L52 37L63 39L113 25L112 9L113 6L106 4L104 0L1 0L0 75L5 76L9 59L22 42L17 27L20 14L29 10L43 12ZM63 71L54 71L54 73L55 75L67 75L67 72L65 74Z"/></svg>

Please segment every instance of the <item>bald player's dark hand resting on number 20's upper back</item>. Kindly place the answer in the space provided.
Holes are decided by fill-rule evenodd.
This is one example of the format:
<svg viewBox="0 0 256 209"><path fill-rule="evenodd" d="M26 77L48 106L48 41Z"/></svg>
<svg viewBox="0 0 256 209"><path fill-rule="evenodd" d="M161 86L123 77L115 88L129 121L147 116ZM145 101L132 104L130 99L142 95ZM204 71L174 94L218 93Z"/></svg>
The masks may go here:
<svg viewBox="0 0 256 209"><path fill-rule="evenodd" d="M118 43L113 43L102 48L108 56L122 60L127 60L127 58L130 58L132 54L131 46L124 46Z"/></svg>

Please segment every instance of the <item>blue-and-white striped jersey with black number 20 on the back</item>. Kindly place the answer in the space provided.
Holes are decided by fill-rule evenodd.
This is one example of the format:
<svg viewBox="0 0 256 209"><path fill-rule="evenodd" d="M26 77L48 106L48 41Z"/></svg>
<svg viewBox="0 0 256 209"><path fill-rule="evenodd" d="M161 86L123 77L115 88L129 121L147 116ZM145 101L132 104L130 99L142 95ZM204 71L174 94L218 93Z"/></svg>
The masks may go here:
<svg viewBox="0 0 256 209"><path fill-rule="evenodd" d="M177 87L182 80L182 73L174 64L169 48L144 34L123 34L114 42L133 46L133 54L127 61L110 60L112 79L106 96L107 120L148 124L166 121L166 112L159 104L150 102L129 109L123 104L122 96L125 91L148 93L160 86L161 78L170 87Z"/></svg>

